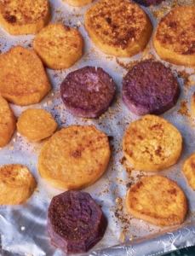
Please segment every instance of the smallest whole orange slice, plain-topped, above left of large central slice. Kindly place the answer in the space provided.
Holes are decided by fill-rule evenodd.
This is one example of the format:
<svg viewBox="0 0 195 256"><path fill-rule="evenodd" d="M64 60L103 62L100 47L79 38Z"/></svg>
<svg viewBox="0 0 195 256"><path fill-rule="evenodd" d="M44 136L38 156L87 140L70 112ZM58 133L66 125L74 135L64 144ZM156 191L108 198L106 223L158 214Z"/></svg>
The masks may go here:
<svg viewBox="0 0 195 256"><path fill-rule="evenodd" d="M57 126L51 113L37 108L28 108L23 111L17 122L20 134L32 142L38 142L51 136Z"/></svg>

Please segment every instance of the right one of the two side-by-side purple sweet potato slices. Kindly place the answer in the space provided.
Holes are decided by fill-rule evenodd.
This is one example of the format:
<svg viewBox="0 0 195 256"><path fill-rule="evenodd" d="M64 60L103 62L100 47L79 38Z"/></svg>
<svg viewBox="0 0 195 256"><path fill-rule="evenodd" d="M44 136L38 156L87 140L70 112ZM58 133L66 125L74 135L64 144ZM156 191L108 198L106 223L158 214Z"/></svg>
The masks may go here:
<svg viewBox="0 0 195 256"><path fill-rule="evenodd" d="M123 78L123 102L137 115L162 114L173 108L180 87L172 71L160 61L141 61Z"/></svg>

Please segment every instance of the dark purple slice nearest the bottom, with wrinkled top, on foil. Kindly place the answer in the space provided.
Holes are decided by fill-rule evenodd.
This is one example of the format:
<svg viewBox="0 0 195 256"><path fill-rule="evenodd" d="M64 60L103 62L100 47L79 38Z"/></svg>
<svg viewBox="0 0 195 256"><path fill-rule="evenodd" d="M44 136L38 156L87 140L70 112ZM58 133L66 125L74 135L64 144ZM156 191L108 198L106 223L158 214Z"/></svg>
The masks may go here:
<svg viewBox="0 0 195 256"><path fill-rule="evenodd" d="M104 236L106 226L106 217L87 192L68 190L49 205L51 242L66 253L86 253Z"/></svg>

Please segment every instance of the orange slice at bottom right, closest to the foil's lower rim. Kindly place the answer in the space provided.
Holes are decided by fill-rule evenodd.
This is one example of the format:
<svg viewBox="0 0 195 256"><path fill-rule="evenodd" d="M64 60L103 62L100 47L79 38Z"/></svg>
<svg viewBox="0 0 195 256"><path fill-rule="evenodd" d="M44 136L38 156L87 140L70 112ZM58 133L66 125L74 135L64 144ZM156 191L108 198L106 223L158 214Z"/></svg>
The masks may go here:
<svg viewBox="0 0 195 256"><path fill-rule="evenodd" d="M143 177L126 196L127 212L160 227L181 224L186 218L187 201L182 189L167 177Z"/></svg>

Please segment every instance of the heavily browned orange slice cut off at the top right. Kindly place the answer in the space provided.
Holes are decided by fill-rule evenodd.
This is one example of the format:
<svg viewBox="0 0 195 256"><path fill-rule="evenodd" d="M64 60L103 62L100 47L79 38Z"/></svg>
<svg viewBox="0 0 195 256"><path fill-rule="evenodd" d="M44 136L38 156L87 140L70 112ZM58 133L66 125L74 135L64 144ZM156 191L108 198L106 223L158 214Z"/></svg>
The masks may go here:
<svg viewBox="0 0 195 256"><path fill-rule="evenodd" d="M164 61L195 66L195 6L178 6L159 21L152 43Z"/></svg>

